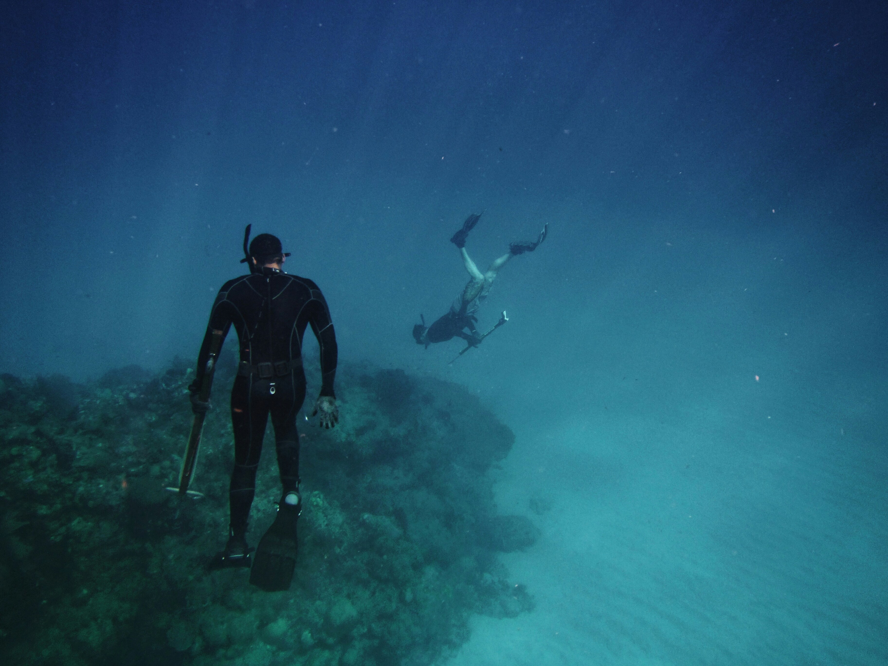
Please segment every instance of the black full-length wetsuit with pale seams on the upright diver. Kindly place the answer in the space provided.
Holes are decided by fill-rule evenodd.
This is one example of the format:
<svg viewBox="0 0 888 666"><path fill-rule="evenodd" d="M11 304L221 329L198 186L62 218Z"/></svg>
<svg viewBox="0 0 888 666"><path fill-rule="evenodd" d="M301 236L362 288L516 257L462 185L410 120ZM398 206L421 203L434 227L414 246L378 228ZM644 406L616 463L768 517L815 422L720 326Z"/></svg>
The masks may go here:
<svg viewBox="0 0 888 666"><path fill-rule="evenodd" d="M321 290L311 280L263 268L219 289L210 324L197 359L192 392L201 385L213 330L223 337L234 325L241 362L231 392L234 425L234 472L229 503L232 534L247 530L256 491L256 471L268 415L272 416L278 468L284 494L299 484L299 435L296 416L305 400L302 339L311 326L321 346L321 395L335 398L337 344L333 322Z"/></svg>

